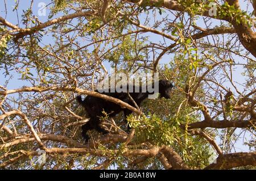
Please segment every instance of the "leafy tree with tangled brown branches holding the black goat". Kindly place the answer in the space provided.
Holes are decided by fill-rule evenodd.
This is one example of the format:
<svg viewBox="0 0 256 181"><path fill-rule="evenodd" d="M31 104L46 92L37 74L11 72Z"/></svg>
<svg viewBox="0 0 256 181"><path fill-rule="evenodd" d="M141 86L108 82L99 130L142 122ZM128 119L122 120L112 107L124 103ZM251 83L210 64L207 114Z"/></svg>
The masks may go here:
<svg viewBox="0 0 256 181"><path fill-rule="evenodd" d="M255 0L1 3L1 169L255 169ZM172 98L95 92L110 68L159 73ZM131 131L105 114L85 143L77 95L133 111Z"/></svg>

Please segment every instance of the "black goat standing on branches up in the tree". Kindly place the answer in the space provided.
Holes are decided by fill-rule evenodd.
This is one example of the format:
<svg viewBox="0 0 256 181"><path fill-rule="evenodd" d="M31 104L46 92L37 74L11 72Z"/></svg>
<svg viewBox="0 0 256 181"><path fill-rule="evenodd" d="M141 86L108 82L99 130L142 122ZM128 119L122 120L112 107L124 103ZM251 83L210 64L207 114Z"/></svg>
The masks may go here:
<svg viewBox="0 0 256 181"><path fill-rule="evenodd" d="M160 98L164 97L166 99L171 98L171 89L174 87L170 81L167 80L160 80L159 82L159 94ZM127 90L128 90L127 85ZM133 86L133 90L135 89L135 86ZM98 92L96 90L96 92ZM139 92L130 92L131 98L135 101L135 103L140 106L141 102L148 97L150 94L154 94L155 92L142 92L142 87L139 87ZM104 92L102 94L112 96L113 98L117 98L122 100L123 102L126 102L130 104L131 106L135 106L133 101L129 98L129 95L126 92ZM85 141L89 140L88 135L86 134L87 131L91 129L95 129L98 132L101 132L103 134L109 133L104 128L101 127L101 120L100 117L104 116L102 111L105 111L108 113L110 117L117 115L117 113L123 111L125 114L125 118L131 114L131 111L127 108L122 108L118 104L115 104L113 102L109 102L108 100L97 98L94 96L86 96L84 100L82 100L81 96L77 96L77 101L85 107L86 112L88 113L88 116L90 117L90 120L82 125L82 136L85 138ZM128 127L129 128L129 127ZM130 129L130 128L129 128Z"/></svg>

